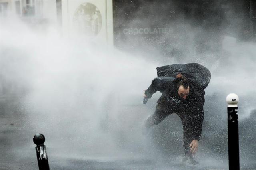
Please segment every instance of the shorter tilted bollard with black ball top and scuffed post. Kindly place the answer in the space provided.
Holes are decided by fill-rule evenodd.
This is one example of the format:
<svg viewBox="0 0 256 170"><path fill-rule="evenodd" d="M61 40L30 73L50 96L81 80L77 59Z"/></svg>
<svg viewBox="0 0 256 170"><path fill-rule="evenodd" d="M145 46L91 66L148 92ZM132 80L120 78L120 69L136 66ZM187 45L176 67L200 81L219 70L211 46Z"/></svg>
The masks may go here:
<svg viewBox="0 0 256 170"><path fill-rule="evenodd" d="M35 134L33 142L36 144L36 156L39 170L50 170L44 141L45 138L43 134Z"/></svg>

